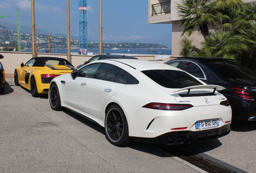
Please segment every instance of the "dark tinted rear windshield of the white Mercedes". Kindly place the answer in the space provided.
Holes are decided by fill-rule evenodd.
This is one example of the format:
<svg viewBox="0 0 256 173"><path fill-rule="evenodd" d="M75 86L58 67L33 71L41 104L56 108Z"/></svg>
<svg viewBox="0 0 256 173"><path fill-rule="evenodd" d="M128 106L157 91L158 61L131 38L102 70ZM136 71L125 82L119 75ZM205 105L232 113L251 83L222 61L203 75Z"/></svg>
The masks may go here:
<svg viewBox="0 0 256 173"><path fill-rule="evenodd" d="M145 70L142 71L153 81L166 88L181 89L185 87L202 85L201 82L184 71L177 70Z"/></svg>

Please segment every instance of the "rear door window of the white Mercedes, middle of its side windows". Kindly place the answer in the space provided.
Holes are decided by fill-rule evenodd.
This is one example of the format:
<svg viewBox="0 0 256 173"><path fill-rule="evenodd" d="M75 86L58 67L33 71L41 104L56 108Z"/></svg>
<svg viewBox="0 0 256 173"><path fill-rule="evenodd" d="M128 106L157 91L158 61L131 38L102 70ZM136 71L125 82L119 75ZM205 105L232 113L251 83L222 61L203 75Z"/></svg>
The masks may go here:
<svg viewBox="0 0 256 173"><path fill-rule="evenodd" d="M97 78L113 82L118 71L118 67L110 64L104 64L101 70L99 71Z"/></svg>

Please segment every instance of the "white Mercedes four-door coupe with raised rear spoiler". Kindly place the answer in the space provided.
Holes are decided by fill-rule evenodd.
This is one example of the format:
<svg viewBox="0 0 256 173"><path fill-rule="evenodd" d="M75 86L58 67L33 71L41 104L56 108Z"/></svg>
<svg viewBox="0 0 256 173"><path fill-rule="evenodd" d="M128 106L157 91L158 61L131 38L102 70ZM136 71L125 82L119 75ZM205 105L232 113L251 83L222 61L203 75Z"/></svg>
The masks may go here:
<svg viewBox="0 0 256 173"><path fill-rule="evenodd" d="M229 134L231 107L222 89L167 64L108 59L54 78L49 101L104 127L113 145L178 145Z"/></svg>

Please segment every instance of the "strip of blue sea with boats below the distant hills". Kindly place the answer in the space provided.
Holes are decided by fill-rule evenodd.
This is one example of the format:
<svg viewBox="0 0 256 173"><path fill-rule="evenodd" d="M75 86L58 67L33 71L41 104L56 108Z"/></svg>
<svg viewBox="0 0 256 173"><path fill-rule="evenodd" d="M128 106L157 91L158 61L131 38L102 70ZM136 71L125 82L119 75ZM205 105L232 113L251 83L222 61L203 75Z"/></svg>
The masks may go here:
<svg viewBox="0 0 256 173"><path fill-rule="evenodd" d="M38 53L46 53L48 49L38 49ZM22 52L32 52L32 49L26 49ZM80 49L71 49L70 53L75 54L80 52ZM88 49L87 52L99 54L99 49ZM67 54L67 49L51 49L53 54ZM171 49L103 49L103 54L163 54L171 55Z"/></svg>

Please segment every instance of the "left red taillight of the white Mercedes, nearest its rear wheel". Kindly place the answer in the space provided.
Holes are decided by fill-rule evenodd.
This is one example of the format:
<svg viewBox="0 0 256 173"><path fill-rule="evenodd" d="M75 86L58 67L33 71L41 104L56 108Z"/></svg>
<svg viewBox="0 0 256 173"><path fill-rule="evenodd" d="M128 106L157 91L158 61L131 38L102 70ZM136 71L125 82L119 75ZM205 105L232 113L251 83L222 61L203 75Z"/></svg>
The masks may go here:
<svg viewBox="0 0 256 173"><path fill-rule="evenodd" d="M149 103L144 108L158 109L164 111L182 111L193 107L190 104L169 104L169 103Z"/></svg>

